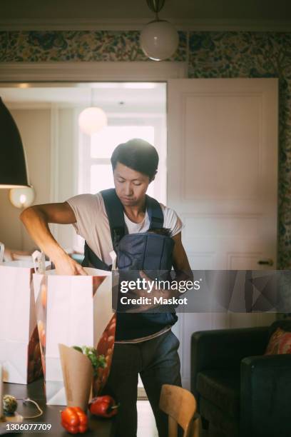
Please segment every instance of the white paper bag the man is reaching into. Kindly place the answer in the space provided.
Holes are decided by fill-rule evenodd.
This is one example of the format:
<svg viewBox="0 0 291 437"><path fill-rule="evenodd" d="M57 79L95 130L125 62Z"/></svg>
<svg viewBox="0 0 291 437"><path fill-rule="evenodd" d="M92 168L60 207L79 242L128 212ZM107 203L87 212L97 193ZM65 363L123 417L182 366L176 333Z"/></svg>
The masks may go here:
<svg viewBox="0 0 291 437"><path fill-rule="evenodd" d="M49 405L66 405L58 344L96 348L115 318L111 272L85 270L88 276L61 276L56 271L34 274L36 317ZM113 344L110 349L112 355ZM109 368L111 356L107 361Z"/></svg>

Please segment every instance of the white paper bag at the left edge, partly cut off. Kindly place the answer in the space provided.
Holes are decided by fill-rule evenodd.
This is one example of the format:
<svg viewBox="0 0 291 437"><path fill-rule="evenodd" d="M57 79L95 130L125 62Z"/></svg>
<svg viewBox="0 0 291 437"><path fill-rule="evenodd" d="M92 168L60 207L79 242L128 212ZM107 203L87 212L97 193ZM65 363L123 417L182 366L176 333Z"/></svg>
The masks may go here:
<svg viewBox="0 0 291 437"><path fill-rule="evenodd" d="M4 381L26 384L42 374L34 293L34 262L2 262L0 243L0 363Z"/></svg>

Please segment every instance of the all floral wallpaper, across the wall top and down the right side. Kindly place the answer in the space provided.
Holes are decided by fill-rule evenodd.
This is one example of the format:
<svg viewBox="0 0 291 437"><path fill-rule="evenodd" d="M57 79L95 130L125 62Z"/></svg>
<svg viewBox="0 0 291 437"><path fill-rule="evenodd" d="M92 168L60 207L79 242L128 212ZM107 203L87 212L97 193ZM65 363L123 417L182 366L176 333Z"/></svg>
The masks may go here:
<svg viewBox="0 0 291 437"><path fill-rule="evenodd" d="M187 37L172 59L187 59ZM138 31L1 31L0 62L149 61ZM280 83L278 268L291 268L291 32L191 31L190 78L277 77Z"/></svg>

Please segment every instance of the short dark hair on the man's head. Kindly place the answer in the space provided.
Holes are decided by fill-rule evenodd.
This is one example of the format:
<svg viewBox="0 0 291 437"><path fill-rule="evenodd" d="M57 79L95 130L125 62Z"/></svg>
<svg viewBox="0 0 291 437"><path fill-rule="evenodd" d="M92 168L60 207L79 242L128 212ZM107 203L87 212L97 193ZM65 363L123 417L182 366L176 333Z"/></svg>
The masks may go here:
<svg viewBox="0 0 291 437"><path fill-rule="evenodd" d="M130 169L146 174L151 181L158 169L158 152L148 141L134 138L126 143L119 144L114 149L111 156L113 171L118 162Z"/></svg>

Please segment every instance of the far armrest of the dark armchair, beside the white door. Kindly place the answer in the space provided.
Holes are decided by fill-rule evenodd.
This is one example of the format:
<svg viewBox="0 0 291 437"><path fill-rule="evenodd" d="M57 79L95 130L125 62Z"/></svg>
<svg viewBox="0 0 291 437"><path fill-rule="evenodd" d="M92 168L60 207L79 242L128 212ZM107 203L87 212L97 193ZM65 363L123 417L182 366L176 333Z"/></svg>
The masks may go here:
<svg viewBox="0 0 291 437"><path fill-rule="evenodd" d="M203 369L240 368L245 356L264 353L268 327L198 331L191 338L191 391L197 396L196 378Z"/></svg>

